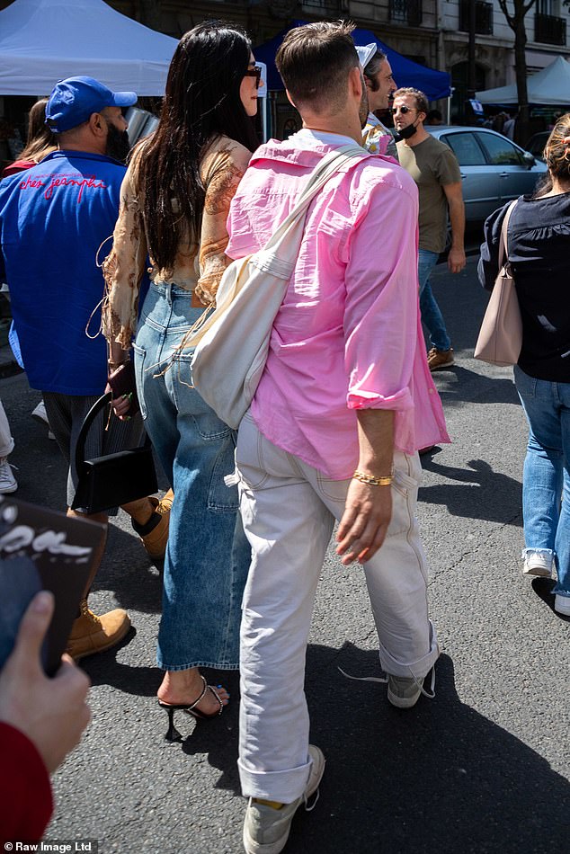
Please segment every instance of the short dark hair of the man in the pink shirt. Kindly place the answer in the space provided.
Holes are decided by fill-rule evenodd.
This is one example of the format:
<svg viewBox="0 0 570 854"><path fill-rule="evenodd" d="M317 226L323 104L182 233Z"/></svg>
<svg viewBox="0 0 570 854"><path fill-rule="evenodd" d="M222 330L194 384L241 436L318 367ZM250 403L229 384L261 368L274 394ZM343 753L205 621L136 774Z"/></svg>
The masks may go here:
<svg viewBox="0 0 570 854"><path fill-rule="evenodd" d="M297 107L307 104L317 112L343 107L348 75L359 64L353 30L354 24L343 21L289 30L275 65Z"/></svg>

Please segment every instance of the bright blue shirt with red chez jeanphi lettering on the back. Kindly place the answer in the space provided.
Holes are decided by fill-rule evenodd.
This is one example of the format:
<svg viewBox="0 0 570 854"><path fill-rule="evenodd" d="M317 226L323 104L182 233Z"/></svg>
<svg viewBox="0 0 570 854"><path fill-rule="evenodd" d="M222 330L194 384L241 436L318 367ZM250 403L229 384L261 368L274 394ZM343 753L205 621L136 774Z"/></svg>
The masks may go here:
<svg viewBox="0 0 570 854"><path fill-rule="evenodd" d="M0 245L30 385L100 395L107 381L96 256L112 235L126 168L110 157L56 151L0 182ZM111 252L101 248L99 262Z"/></svg>

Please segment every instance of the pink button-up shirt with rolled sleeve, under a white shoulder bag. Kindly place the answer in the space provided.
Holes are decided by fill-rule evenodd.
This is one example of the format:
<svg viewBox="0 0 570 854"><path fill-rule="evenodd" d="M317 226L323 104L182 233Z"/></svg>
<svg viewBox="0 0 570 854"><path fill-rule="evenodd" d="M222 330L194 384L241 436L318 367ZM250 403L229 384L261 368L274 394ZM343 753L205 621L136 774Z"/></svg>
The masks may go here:
<svg viewBox="0 0 570 854"><path fill-rule="evenodd" d="M231 204L227 254L262 248L319 159L346 144L302 130L258 148ZM343 165L308 209L252 415L273 444L333 480L358 463L355 410L393 410L406 453L449 441L423 343L417 217L414 181L382 156Z"/></svg>

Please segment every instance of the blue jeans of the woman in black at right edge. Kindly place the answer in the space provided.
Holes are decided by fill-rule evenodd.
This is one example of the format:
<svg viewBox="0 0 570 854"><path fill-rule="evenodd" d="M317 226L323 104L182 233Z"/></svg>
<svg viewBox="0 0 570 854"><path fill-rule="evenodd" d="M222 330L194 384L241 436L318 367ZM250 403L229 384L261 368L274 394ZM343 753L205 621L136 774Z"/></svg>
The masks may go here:
<svg viewBox="0 0 570 854"><path fill-rule="evenodd" d="M514 381L530 428L522 476L524 554L554 556L554 592L570 596L570 383L529 377L517 365Z"/></svg>

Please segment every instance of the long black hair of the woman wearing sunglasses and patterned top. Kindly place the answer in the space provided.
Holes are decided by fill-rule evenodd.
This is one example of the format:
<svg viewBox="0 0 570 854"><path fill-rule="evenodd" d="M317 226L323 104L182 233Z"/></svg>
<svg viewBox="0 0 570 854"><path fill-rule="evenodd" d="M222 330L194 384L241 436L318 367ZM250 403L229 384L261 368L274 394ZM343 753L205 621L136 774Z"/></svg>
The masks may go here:
<svg viewBox="0 0 570 854"><path fill-rule="evenodd" d="M250 55L245 31L220 21L200 23L174 51L160 122L138 152L149 250L161 270L173 269L189 229L196 239L200 234L200 159L206 148L222 134L251 151L258 145L239 95Z"/></svg>

